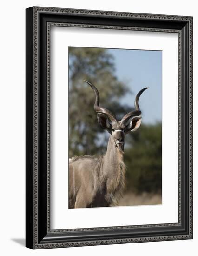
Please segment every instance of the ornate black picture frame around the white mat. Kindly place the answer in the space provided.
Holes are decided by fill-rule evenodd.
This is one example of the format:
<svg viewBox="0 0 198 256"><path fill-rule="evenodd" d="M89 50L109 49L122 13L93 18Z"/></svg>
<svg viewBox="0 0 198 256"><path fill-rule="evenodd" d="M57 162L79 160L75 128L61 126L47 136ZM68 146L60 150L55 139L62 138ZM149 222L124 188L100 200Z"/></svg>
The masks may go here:
<svg viewBox="0 0 198 256"><path fill-rule="evenodd" d="M50 229L50 27L178 33L178 223ZM26 247L192 239L193 18L51 7L26 9Z"/></svg>

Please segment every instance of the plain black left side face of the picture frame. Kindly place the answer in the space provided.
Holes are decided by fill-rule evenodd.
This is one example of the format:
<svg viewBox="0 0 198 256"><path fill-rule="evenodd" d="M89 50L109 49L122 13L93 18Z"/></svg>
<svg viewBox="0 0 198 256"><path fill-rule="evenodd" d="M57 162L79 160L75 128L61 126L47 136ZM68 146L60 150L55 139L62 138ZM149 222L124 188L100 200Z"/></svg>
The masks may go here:
<svg viewBox="0 0 198 256"><path fill-rule="evenodd" d="M26 9L26 247L33 249L33 8Z"/></svg>

